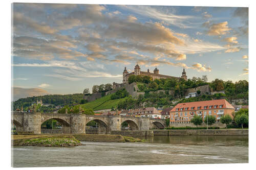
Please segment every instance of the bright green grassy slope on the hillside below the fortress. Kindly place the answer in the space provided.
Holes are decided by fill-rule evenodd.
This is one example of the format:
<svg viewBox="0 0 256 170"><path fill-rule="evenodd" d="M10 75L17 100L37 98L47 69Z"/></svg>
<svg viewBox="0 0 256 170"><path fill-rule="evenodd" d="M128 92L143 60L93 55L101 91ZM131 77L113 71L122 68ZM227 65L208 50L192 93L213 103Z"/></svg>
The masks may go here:
<svg viewBox="0 0 256 170"><path fill-rule="evenodd" d="M102 110L102 109L111 109L112 107L116 107L118 102L122 99L111 100L111 95L106 95L102 98L96 99L95 101L83 104L87 109L93 110Z"/></svg>

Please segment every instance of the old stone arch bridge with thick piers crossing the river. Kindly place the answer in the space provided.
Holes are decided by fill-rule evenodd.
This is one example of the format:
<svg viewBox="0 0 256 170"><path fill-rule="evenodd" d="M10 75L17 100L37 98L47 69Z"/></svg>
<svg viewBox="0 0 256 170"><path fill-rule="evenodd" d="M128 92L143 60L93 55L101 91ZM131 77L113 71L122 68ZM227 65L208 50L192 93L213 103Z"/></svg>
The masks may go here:
<svg viewBox="0 0 256 170"><path fill-rule="evenodd" d="M55 119L62 126L64 134L85 134L86 125L94 120L98 123L98 133L110 134L111 131L120 131L121 124L127 122L131 130L163 129L166 127L164 119L149 117L133 117L120 115L86 115L86 114L59 114L40 112L12 112L12 124L16 126L18 134L40 134L41 125L46 120Z"/></svg>

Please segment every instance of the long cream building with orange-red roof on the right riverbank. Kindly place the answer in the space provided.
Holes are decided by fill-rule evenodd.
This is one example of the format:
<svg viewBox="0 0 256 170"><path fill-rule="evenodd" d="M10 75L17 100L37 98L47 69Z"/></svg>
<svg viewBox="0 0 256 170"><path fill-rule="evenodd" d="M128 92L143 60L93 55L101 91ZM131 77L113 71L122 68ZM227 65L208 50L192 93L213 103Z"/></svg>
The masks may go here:
<svg viewBox="0 0 256 170"><path fill-rule="evenodd" d="M223 115L229 114L232 116L234 107L225 99L179 103L170 110L170 124L188 123L194 115L199 115L205 118L206 115L213 115L217 122Z"/></svg>

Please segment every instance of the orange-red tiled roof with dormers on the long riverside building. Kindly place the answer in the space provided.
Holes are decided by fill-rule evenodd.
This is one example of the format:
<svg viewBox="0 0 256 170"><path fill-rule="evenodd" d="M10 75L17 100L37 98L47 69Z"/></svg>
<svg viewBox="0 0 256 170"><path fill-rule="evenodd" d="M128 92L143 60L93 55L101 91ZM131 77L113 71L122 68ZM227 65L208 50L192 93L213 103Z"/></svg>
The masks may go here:
<svg viewBox="0 0 256 170"><path fill-rule="evenodd" d="M217 108L214 108L214 106L217 105ZM177 104L171 112L175 112L177 108L179 108L178 111L181 111L180 109L183 108L182 111L190 111L190 110L203 110L204 106L207 106L206 109L209 109L209 106L212 106L212 109L219 109L220 105L223 105L222 108L230 108L234 109L234 107L228 103L225 99L220 100L211 100L211 101L200 101L200 102L188 102L188 103L179 103ZM194 109L191 109L191 107L195 107ZM198 107L201 107L198 109ZM188 108L185 110L185 108Z"/></svg>

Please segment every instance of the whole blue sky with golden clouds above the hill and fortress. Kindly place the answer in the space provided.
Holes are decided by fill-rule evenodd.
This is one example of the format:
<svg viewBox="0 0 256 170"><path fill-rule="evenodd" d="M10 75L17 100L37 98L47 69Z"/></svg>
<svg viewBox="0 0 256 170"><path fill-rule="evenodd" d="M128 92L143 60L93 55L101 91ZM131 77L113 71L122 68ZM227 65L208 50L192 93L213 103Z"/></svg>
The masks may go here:
<svg viewBox="0 0 256 170"><path fill-rule="evenodd" d="M142 71L248 81L248 8L13 4L14 96L82 93Z"/></svg>

